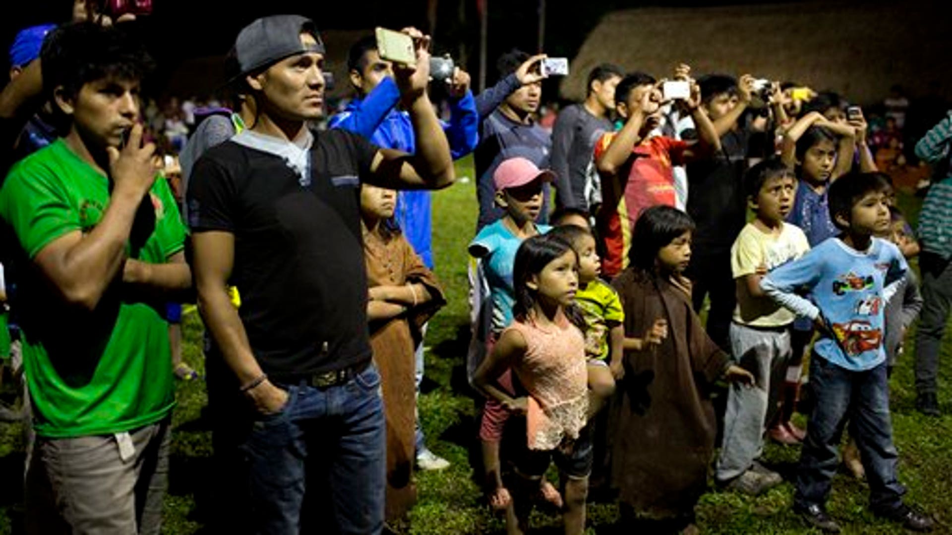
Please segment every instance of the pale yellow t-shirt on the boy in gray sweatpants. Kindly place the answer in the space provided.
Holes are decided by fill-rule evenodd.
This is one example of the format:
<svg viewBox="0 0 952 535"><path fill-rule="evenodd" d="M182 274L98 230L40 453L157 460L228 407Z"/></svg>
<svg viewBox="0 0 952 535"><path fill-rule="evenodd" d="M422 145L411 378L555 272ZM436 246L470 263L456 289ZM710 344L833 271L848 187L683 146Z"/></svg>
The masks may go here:
<svg viewBox="0 0 952 535"><path fill-rule="evenodd" d="M784 223L780 234L768 234L748 223L730 248L730 268L737 284L737 308L734 321L750 327L783 327L793 323L793 312L774 303L769 297L753 297L744 276L767 271L796 260L810 250L806 235L796 225Z"/></svg>

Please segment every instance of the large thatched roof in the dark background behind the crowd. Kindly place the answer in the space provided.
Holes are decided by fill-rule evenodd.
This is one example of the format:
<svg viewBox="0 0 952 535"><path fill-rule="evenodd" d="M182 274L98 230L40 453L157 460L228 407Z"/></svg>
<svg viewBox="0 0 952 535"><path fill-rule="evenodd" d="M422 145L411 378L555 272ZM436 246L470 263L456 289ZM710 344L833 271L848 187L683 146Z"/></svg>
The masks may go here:
<svg viewBox="0 0 952 535"><path fill-rule="evenodd" d="M804 3L613 11L588 34L561 86L581 99L588 71L603 62L669 76L726 72L796 80L881 102L893 84L922 94L938 82L952 96L952 33L945 4Z"/></svg>

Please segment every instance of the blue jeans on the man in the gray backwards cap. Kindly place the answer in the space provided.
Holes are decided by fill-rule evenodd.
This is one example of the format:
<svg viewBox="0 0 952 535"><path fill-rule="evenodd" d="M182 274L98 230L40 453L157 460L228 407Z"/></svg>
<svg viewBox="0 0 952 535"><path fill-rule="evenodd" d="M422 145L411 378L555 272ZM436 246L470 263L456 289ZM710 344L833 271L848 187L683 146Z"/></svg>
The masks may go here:
<svg viewBox="0 0 952 535"><path fill-rule="evenodd" d="M329 489L337 533L380 533L387 435L377 368L370 365L340 386L283 387L287 405L256 421L240 446L248 462L253 531L297 534L305 490L314 485L318 493ZM322 524L328 529L334 532Z"/></svg>

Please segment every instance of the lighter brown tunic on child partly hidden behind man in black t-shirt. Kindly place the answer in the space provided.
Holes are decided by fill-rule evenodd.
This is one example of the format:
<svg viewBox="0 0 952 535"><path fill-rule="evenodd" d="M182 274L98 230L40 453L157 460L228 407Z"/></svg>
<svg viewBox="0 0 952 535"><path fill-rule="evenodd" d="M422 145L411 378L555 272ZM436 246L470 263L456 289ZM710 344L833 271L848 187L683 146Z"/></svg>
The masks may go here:
<svg viewBox="0 0 952 535"><path fill-rule="evenodd" d="M416 386L414 348L419 328L446 303L433 273L424 266L402 234L385 239L364 230L367 287L420 283L432 299L407 314L370 323L373 360L380 369L387 418L387 520L407 514L416 503L413 463Z"/></svg>

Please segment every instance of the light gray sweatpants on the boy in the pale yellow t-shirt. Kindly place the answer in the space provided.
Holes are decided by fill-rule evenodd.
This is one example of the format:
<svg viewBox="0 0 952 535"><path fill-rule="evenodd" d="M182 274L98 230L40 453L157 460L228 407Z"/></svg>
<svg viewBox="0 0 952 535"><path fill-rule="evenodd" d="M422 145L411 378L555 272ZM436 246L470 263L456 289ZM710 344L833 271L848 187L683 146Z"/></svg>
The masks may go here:
<svg viewBox="0 0 952 535"><path fill-rule="evenodd" d="M724 413L724 442L715 476L728 481L753 465L764 449L764 419L770 392L780 386L782 370L793 355L790 329L730 325L730 348L734 362L754 375L754 386L733 384Z"/></svg>

